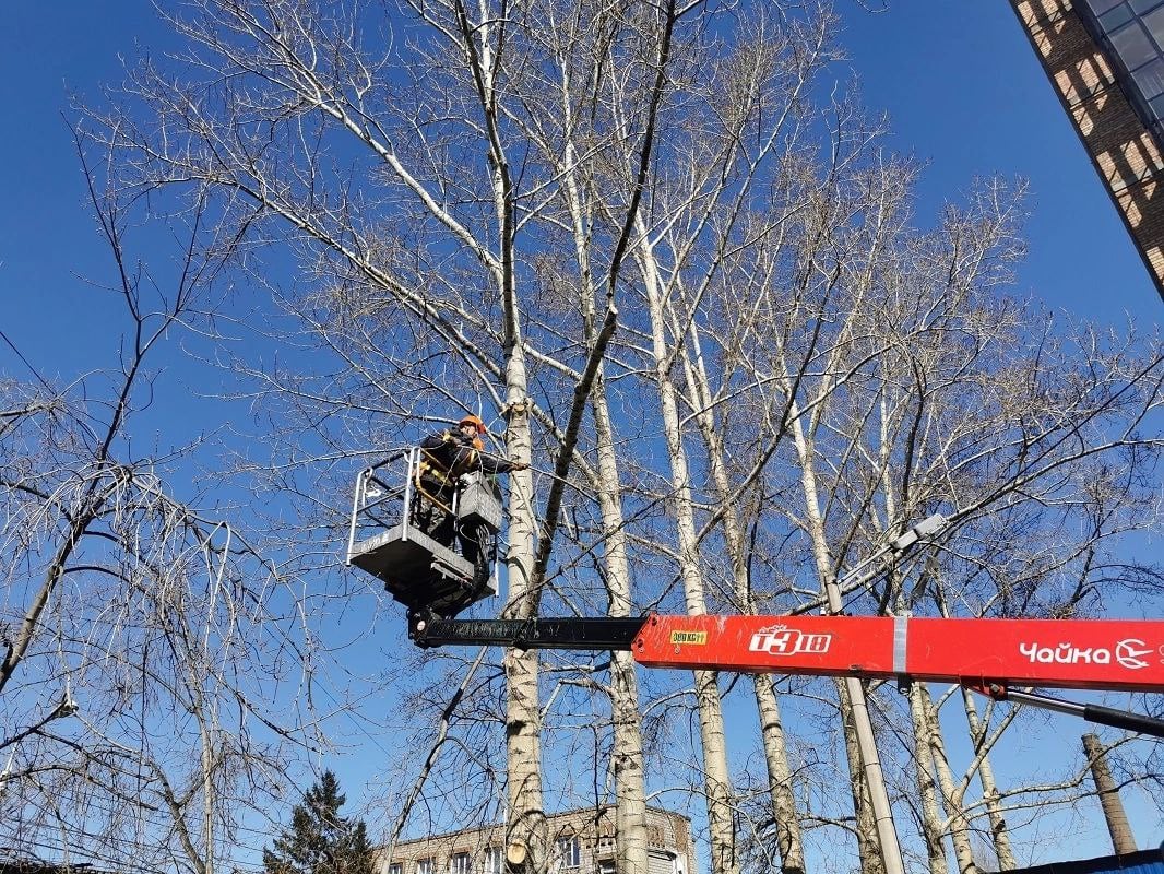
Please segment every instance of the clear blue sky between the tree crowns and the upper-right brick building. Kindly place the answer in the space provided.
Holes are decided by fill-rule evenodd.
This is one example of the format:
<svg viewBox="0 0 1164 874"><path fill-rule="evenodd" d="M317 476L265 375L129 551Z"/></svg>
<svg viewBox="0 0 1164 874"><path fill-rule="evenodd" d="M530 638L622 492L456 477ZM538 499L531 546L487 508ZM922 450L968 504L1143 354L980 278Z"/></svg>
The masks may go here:
<svg viewBox="0 0 1164 874"><path fill-rule="evenodd" d="M1143 262L1008 2L895 0L887 13L845 13L866 103L889 112L896 148L928 162L923 224L975 176L1025 177L1018 290L1091 319L1127 311L1159 323Z"/></svg>

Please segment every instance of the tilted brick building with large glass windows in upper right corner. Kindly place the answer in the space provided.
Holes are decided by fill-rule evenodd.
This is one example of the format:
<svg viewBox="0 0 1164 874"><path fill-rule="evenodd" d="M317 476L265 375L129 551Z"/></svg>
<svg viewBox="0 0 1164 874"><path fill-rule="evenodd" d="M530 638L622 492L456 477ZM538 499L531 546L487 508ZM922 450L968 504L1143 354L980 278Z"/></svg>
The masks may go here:
<svg viewBox="0 0 1164 874"><path fill-rule="evenodd" d="M1164 0L1010 0L1164 297Z"/></svg>

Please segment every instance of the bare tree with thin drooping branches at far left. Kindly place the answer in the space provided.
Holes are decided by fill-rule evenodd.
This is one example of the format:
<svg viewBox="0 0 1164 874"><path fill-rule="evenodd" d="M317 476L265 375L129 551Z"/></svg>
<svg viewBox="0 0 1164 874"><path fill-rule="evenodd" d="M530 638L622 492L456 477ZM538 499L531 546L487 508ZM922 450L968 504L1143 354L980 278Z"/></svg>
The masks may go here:
<svg viewBox="0 0 1164 874"><path fill-rule="evenodd" d="M213 874L282 792L288 750L318 740L297 696L271 685L303 676L310 635L292 580L197 492L176 495L199 440L140 449L155 444L141 428L150 361L215 303L228 253L206 200L168 224L176 261L150 267L129 249L142 204L85 169L112 255L113 282L93 294L120 304L126 330L111 369L2 383L0 840L30 858Z"/></svg>

